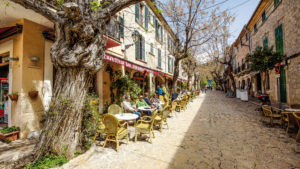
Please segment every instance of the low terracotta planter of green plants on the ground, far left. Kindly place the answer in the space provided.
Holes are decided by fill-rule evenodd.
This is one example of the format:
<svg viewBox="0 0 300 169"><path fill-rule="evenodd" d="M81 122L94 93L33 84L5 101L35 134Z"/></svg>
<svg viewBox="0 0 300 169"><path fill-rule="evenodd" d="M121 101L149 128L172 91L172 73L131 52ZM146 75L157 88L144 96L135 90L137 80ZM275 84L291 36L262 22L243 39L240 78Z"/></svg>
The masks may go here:
<svg viewBox="0 0 300 169"><path fill-rule="evenodd" d="M18 139L20 128L16 126L0 129L0 140L14 141Z"/></svg>

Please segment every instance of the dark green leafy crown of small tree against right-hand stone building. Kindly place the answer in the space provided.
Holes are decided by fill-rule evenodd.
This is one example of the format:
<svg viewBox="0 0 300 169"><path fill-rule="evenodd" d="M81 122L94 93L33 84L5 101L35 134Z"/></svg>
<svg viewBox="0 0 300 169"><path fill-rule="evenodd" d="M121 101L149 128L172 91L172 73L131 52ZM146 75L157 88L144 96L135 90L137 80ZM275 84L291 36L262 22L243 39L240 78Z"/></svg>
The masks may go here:
<svg viewBox="0 0 300 169"><path fill-rule="evenodd" d="M272 70L276 63L281 63L284 56L273 51L272 47L258 46L252 54L248 54L246 59L250 62L251 71L265 72Z"/></svg>

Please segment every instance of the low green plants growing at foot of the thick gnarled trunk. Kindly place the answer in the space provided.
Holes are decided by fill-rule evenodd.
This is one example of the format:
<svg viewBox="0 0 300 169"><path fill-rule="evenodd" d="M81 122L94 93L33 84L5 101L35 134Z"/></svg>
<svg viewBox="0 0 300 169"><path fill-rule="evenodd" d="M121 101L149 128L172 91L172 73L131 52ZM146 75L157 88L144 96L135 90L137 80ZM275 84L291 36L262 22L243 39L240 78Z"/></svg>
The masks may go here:
<svg viewBox="0 0 300 169"><path fill-rule="evenodd" d="M50 155L47 157L42 157L38 159L35 163L29 163L26 166L26 169L48 169L54 168L58 166L62 166L63 164L67 163L68 159L65 156L54 156Z"/></svg>

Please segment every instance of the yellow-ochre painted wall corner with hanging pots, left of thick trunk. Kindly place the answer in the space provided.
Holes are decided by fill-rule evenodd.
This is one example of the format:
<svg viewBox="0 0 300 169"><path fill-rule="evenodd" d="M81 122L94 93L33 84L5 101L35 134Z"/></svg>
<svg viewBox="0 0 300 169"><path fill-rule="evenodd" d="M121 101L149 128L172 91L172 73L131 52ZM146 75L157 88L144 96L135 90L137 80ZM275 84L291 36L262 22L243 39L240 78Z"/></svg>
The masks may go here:
<svg viewBox="0 0 300 169"><path fill-rule="evenodd" d="M12 92L18 92L18 101L12 102L11 125L18 126L21 129L21 138L25 138L30 131L41 129L42 115L44 107L41 98L44 72L44 48L45 39L42 32L48 28L21 19L12 23L23 25L21 34L13 38L13 57L19 58L18 61L12 61L13 81ZM33 64L31 57L36 56L40 60ZM39 91L35 99L28 96L31 89Z"/></svg>

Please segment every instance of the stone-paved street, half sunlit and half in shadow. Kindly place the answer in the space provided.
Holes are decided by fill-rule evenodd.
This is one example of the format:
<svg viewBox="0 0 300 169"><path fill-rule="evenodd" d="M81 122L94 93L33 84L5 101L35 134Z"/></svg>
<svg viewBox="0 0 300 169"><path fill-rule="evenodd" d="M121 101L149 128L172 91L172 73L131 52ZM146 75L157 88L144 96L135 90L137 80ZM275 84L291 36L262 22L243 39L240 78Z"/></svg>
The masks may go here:
<svg viewBox="0 0 300 169"><path fill-rule="evenodd" d="M128 145L93 147L61 168L300 168L299 143L279 127L261 122L256 106L221 92L201 94L188 109L168 119L170 129L155 131L153 144L140 138ZM124 140L125 143L125 140Z"/></svg>

